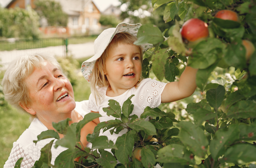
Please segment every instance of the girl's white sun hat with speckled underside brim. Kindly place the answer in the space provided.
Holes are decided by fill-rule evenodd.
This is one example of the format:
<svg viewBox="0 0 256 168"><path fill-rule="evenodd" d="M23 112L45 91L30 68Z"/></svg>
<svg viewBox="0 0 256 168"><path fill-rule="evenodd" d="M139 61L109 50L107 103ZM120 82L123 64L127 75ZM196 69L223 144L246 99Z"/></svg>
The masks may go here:
<svg viewBox="0 0 256 168"><path fill-rule="evenodd" d="M116 28L108 28L105 29L94 41L94 56L90 59L84 61L82 63L82 73L83 77L90 82L90 75L94 68L94 64L97 59L103 54L105 49L107 48L108 44L112 41L114 35L120 32L127 32L131 35L137 36L139 28L142 24L129 24L129 23L119 23ZM152 48L152 44L143 44L142 48L143 51Z"/></svg>

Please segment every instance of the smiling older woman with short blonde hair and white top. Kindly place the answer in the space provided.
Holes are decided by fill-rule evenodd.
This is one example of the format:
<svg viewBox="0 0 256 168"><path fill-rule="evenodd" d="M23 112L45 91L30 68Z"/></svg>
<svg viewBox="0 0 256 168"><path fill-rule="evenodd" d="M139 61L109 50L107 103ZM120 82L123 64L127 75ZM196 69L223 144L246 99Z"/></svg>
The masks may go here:
<svg viewBox="0 0 256 168"><path fill-rule="evenodd" d="M3 82L6 100L16 108L28 112L34 119L19 139L13 143L11 154L4 168L13 168L23 157L21 166L30 168L40 157L40 150L52 139L33 140L46 130L54 130L52 123L70 118L69 124L79 122L89 113L87 101L75 102L74 91L60 64L53 56L32 54L18 58L6 71ZM81 130L81 142L88 145L86 135L92 133L96 124L90 122ZM60 138L63 135L60 134ZM52 147L52 164L66 150Z"/></svg>

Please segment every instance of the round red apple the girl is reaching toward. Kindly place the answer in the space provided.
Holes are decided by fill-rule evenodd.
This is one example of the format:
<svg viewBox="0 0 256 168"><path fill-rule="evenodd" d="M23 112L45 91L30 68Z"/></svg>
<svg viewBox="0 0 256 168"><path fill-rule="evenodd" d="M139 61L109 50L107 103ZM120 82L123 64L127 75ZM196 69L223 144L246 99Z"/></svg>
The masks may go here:
<svg viewBox="0 0 256 168"><path fill-rule="evenodd" d="M208 25L200 19L189 19L181 27L181 36L191 48L209 36Z"/></svg>

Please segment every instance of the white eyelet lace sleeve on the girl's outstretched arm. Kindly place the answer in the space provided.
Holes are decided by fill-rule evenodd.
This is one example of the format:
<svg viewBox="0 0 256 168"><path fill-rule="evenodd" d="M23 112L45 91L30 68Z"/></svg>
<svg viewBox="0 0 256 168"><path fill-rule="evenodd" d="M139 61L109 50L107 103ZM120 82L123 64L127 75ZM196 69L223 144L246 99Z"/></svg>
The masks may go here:
<svg viewBox="0 0 256 168"><path fill-rule="evenodd" d="M161 94L165 86L166 83L151 79L149 82L139 86L139 91L137 92L133 102L143 110L147 106L156 108L161 104Z"/></svg>

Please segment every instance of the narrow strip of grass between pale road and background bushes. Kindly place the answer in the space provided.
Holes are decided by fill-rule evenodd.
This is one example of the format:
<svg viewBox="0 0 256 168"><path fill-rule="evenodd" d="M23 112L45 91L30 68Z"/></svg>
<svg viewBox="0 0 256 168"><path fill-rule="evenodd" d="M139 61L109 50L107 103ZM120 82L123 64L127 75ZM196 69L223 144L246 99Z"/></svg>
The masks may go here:
<svg viewBox="0 0 256 168"><path fill-rule="evenodd" d="M68 44L80 44L86 42L94 42L97 36L75 36L68 38ZM39 38L35 40L21 39L16 42L0 41L0 51L11 51L14 49L37 49L49 46L64 45L63 38Z"/></svg>

